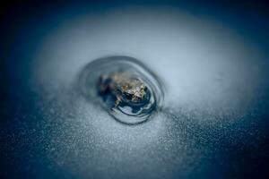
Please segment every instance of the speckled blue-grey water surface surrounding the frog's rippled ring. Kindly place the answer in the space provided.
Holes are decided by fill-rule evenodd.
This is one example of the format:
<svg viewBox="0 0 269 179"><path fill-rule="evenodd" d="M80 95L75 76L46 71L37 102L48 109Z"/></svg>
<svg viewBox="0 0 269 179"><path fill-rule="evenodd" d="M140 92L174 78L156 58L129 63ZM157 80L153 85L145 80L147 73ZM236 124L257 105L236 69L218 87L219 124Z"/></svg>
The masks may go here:
<svg viewBox="0 0 269 179"><path fill-rule="evenodd" d="M14 15L2 32L13 38L1 61L1 178L268 175L268 36L230 22L251 14L72 7ZM165 81L147 123L120 124L76 90L82 67L106 55L134 56Z"/></svg>

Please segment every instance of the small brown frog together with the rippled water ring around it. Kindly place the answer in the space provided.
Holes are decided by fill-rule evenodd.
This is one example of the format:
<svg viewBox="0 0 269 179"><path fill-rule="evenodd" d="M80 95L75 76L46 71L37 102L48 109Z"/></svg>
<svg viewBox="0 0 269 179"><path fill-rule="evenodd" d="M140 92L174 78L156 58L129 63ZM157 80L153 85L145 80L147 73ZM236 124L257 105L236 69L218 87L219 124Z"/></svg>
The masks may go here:
<svg viewBox="0 0 269 179"><path fill-rule="evenodd" d="M109 56L87 64L79 82L85 98L124 124L146 121L161 107L164 96L159 78L129 56Z"/></svg>

